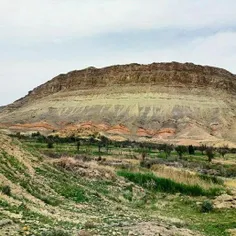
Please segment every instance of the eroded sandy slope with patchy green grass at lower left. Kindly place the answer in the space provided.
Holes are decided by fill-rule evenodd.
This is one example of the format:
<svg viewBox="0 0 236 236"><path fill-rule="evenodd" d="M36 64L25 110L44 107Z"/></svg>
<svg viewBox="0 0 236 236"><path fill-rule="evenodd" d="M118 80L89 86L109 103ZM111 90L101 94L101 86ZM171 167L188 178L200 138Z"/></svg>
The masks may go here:
<svg viewBox="0 0 236 236"><path fill-rule="evenodd" d="M32 155L2 134L0 143L1 236L128 235L132 230L142 235L200 235L134 207L147 193L116 177L109 167L73 158L50 160L36 150L30 150ZM128 189L134 191L132 204L123 197Z"/></svg>

